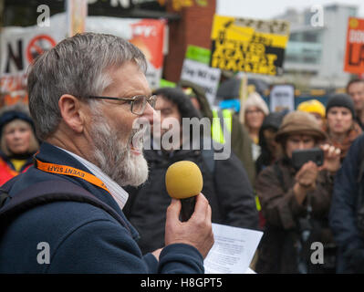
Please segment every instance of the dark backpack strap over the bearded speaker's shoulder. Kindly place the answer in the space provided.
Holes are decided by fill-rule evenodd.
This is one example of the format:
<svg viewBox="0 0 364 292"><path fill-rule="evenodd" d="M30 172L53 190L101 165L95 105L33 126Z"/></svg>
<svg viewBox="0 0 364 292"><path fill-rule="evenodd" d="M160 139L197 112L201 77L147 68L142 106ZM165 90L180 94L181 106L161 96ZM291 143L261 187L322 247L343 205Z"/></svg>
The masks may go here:
<svg viewBox="0 0 364 292"><path fill-rule="evenodd" d="M53 203L58 201L72 201L79 203L90 203L109 213L115 220L124 226L131 235L130 227L125 220L112 209L107 203L103 203L92 193L89 193L75 183L61 180L51 180L32 184L26 189L16 193L14 197L9 196L9 190L15 181L5 183L0 191L5 199L10 201L0 209L0 222L2 225L9 224L12 218L22 214L37 205ZM5 201L3 199L3 201Z"/></svg>

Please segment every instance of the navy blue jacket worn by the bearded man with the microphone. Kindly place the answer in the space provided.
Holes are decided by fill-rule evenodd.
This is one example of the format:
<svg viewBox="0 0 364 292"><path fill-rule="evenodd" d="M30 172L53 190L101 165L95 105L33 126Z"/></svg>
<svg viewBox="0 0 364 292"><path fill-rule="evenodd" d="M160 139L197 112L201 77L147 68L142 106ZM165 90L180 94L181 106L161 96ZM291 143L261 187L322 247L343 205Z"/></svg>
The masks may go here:
<svg viewBox="0 0 364 292"><path fill-rule="evenodd" d="M47 143L41 145L37 158L89 172L68 153ZM76 177L42 172L35 167L20 175L10 195L33 183L68 180L109 204L129 224L131 232L109 213L89 203L38 205L5 228L0 239L0 273L203 273L203 257L192 245L166 246L159 263L151 254L141 255L137 231L103 189ZM39 263L38 255L44 251L40 243L50 247L49 264Z"/></svg>

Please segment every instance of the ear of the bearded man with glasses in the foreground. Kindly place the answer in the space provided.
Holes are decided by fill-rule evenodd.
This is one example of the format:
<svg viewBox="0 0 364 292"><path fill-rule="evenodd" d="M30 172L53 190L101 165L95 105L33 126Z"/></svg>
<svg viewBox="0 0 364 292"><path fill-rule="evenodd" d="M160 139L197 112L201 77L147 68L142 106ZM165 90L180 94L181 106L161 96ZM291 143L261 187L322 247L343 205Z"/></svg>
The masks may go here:
<svg viewBox="0 0 364 292"><path fill-rule="evenodd" d="M74 96L64 94L58 100L58 107L62 119L68 127L78 133L82 132L85 124L82 103Z"/></svg>

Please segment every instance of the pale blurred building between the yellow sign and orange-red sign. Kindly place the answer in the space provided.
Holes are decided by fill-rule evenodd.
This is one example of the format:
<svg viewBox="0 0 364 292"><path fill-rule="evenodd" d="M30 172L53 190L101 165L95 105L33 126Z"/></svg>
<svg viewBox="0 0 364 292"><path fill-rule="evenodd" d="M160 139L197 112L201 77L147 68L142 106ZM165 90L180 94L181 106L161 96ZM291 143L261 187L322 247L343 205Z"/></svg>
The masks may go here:
<svg viewBox="0 0 364 292"><path fill-rule="evenodd" d="M317 5L276 16L291 23L285 78L310 88L344 88L350 78L344 72L348 17L357 14L355 5Z"/></svg>

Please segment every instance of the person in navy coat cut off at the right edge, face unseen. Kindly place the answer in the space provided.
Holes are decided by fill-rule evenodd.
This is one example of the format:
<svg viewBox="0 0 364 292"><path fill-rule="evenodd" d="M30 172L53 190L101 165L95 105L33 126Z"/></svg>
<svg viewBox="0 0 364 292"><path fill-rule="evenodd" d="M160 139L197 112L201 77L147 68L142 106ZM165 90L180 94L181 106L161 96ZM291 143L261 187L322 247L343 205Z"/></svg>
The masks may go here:
<svg viewBox="0 0 364 292"><path fill-rule="evenodd" d="M364 273L364 135L353 142L335 178L329 213L338 273Z"/></svg>

